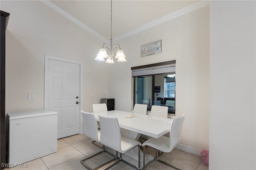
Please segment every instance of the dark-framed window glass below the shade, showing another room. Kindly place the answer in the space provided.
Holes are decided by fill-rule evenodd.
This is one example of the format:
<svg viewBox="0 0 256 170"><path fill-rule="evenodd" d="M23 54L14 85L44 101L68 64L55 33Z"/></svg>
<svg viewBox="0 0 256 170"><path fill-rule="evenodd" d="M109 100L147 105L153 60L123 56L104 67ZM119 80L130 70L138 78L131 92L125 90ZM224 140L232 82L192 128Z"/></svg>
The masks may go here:
<svg viewBox="0 0 256 170"><path fill-rule="evenodd" d="M175 73L134 76L134 104L167 106L175 113Z"/></svg>

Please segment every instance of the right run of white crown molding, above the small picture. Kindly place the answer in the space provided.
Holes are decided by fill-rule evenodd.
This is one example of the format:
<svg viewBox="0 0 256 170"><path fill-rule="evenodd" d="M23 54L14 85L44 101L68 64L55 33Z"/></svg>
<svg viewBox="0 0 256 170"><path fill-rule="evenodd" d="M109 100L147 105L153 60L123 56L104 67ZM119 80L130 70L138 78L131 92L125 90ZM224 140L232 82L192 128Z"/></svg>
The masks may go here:
<svg viewBox="0 0 256 170"><path fill-rule="evenodd" d="M154 21L151 21L149 23L146 23L145 25L142 25L142 26L140 26L138 28L135 28L135 29L133 29L131 31L128 31L128 32L126 32L126 33L124 33L124 34L122 34L122 35L120 35L118 37L115 37L115 38L113 38L113 41L119 41L119 40L124 39L126 37L129 37L131 35L134 35L136 33L139 33L141 31L144 31L146 29L149 29L149 28L154 27L156 25L159 25L161 23L164 23L166 21L172 20L174 18L178 18L179 16L182 16L182 15L187 14L189 12L192 12L194 10L198 10L200 8L208 6L209 4L210 4L210 2L208 0L201 0L199 2L196 2L195 4L192 4L190 6L182 8L181 10L178 10L176 12L173 12L171 14L163 16L163 17L161 17L161 18L159 18L157 20L154 20Z"/></svg>

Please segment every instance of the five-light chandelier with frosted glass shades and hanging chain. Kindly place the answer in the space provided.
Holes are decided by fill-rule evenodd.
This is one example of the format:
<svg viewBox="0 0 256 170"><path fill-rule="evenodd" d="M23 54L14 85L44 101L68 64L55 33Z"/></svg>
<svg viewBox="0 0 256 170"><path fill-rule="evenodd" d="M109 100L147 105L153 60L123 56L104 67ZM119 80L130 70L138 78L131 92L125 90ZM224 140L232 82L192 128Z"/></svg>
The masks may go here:
<svg viewBox="0 0 256 170"><path fill-rule="evenodd" d="M115 58L118 59L117 62L126 62L126 55L124 55L124 51L122 51L122 49L120 48L119 44L115 44L112 46L112 0L111 0L111 26L110 26L110 45L108 45L107 43L104 43L101 47L101 49L99 50L96 58L94 60L96 61L105 61L105 58L107 58L107 60L105 61L105 63L109 63L109 64L114 64L114 49L118 49L116 51L116 56ZM107 53L106 49L108 49L109 53Z"/></svg>

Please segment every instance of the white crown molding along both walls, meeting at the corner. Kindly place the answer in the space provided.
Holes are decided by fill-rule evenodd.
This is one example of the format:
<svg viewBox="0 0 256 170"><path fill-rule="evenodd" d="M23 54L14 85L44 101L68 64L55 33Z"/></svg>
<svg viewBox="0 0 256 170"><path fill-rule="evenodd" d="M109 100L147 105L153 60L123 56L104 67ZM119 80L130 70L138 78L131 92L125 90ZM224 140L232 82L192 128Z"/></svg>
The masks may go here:
<svg viewBox="0 0 256 170"><path fill-rule="evenodd" d="M58 12L59 14L61 14L64 17L66 17L68 20L74 22L76 25L82 27L83 29L85 29L86 31L88 31L89 33L91 33L92 35L97 37L98 39L100 39L100 40L102 40L104 42L109 42L108 39L106 39L105 37L100 35L98 32L96 32L93 29L91 29L90 27L88 27L86 24L84 24L80 20L76 19L74 16L70 15L68 12L66 12L62 8L56 6L54 3L50 2L50 0L40 0L40 2L42 2L43 4L48 6L49 8L52 8L54 11ZM187 14L189 12L192 12L194 10L198 10L200 8L208 6L209 4L210 3L209 3L208 0L201 0L199 2L196 2L195 4L192 4L190 6L182 8L181 10L178 10L176 12L173 12L171 14L163 16L163 17L161 17L161 18L159 18L157 20L154 20L154 21L151 21L149 23L146 23L145 25L142 25L142 26L140 26L140 27L138 27L136 29L133 29L131 31L128 31L128 32L118 36L118 37L115 37L115 38L113 38L113 41L119 41L119 40L124 39L126 37L129 37L131 35L134 35L136 33L139 33L141 31L144 31L146 29L149 29L149 28L154 27L156 25L159 25L161 23L164 23L166 21L172 20L174 18L177 18L179 16L182 16L182 15Z"/></svg>

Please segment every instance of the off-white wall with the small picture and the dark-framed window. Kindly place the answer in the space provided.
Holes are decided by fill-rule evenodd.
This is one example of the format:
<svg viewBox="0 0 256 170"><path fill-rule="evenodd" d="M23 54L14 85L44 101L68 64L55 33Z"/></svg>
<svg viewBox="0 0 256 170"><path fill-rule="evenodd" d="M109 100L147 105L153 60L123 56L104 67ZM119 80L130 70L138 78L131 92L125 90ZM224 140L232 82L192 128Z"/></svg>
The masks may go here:
<svg viewBox="0 0 256 170"><path fill-rule="evenodd" d="M140 57L140 46L162 40L162 53ZM176 115L186 114L181 143L208 149L209 6L118 42L126 63L110 66L110 97L115 109L132 111L131 67L176 60Z"/></svg>

